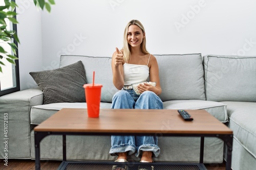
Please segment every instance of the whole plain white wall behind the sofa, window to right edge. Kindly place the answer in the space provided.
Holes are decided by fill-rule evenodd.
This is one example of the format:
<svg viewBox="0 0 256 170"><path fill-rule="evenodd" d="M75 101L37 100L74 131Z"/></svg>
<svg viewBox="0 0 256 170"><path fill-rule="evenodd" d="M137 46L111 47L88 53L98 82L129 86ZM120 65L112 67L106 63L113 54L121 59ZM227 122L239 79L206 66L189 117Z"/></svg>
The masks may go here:
<svg viewBox="0 0 256 170"><path fill-rule="evenodd" d="M147 49L152 54L256 55L256 1L253 0L55 0L55 3L50 14L41 12L41 23L37 20L36 26L26 27L32 35L36 32L37 37L41 24L41 42L37 37L38 44L34 45L39 48L41 43L42 48L41 54L40 50L32 50L33 54L38 53L38 59L31 61L25 46L19 46L19 50L26 51L19 54L23 55L20 62L31 61L40 67L31 64L26 69L21 67L20 71L26 73L21 82L33 82L29 71L58 68L61 54L112 56L116 46L122 47L123 31L131 19L144 25Z"/></svg>

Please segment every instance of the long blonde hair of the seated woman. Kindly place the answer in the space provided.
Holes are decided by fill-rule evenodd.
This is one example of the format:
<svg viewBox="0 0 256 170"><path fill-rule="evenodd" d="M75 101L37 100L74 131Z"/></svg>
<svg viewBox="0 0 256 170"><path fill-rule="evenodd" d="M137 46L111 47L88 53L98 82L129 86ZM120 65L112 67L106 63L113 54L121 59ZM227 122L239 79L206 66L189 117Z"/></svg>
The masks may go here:
<svg viewBox="0 0 256 170"><path fill-rule="evenodd" d="M140 21L133 19L129 23L127 23L127 26L125 27L124 34L123 34L123 60L125 63L129 62L130 56L131 56L131 46L127 42L127 32L131 25L138 26L142 30L142 33L143 34L145 33L145 29ZM149 54L146 50L146 37L140 44L140 48L141 48L142 53Z"/></svg>

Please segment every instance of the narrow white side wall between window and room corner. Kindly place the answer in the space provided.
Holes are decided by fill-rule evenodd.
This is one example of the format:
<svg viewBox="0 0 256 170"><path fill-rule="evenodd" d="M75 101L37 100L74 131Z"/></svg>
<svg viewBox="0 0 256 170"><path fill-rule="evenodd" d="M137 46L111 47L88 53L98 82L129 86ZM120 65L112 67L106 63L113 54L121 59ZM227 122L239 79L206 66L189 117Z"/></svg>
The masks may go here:
<svg viewBox="0 0 256 170"><path fill-rule="evenodd" d="M29 75L42 67L41 12L33 0L16 0L20 89L36 86Z"/></svg>

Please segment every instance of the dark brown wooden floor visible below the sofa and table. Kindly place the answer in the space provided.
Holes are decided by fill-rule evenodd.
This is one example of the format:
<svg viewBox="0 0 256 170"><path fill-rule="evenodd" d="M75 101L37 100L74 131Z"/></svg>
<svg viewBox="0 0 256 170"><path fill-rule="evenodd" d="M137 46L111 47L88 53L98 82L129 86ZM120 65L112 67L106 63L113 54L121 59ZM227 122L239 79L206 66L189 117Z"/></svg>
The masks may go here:
<svg viewBox="0 0 256 170"><path fill-rule="evenodd" d="M58 168L61 161L41 161L41 170L55 170ZM4 165L5 162L3 159L0 160L0 169L2 170L34 170L35 161L34 160L20 160L20 159L11 159L8 160L8 166ZM222 164L205 164L208 170L224 170L225 163ZM110 169L111 170L111 169ZM165 170L165 169L164 169Z"/></svg>

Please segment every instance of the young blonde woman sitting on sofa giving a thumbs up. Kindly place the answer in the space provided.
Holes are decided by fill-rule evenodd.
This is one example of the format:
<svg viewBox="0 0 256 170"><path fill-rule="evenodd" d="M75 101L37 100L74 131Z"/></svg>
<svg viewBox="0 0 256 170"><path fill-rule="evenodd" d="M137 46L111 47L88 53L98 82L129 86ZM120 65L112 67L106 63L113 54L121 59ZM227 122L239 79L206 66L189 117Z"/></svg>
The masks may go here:
<svg viewBox="0 0 256 170"><path fill-rule="evenodd" d="M123 48L112 56L113 83L119 91L113 96L112 109L163 109L159 98L162 92L159 80L159 69L156 58L146 50L145 30L138 20L131 20L123 36ZM138 85L140 95L136 94L132 84L156 82ZM140 162L153 162L160 148L157 136L111 136L112 156L118 156L116 162L127 162L127 155L136 152ZM121 169L121 168L119 168Z"/></svg>

